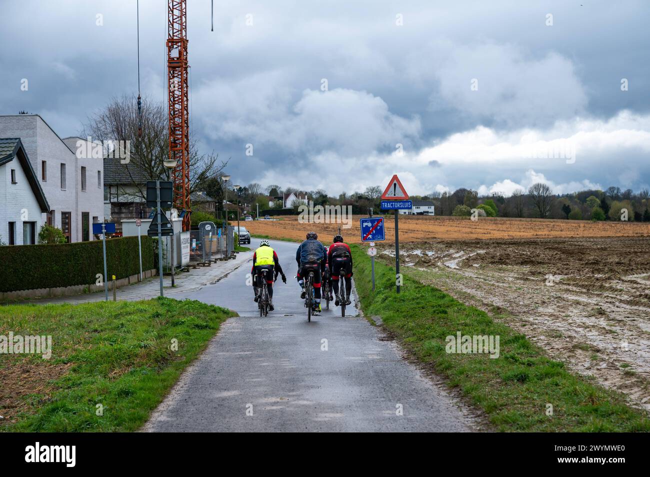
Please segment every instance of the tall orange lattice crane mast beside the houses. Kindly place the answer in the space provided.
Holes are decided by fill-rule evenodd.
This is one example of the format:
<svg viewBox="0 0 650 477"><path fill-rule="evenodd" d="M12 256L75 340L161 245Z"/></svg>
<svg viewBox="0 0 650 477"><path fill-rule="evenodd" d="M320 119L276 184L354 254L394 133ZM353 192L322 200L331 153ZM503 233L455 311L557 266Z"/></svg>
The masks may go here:
<svg viewBox="0 0 650 477"><path fill-rule="evenodd" d="M174 207L185 210L183 231L190 229L190 133L187 78L187 0L168 0L167 79L169 157L176 160L172 181Z"/></svg>

